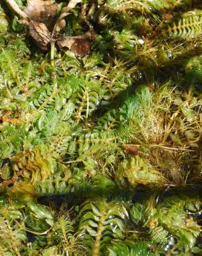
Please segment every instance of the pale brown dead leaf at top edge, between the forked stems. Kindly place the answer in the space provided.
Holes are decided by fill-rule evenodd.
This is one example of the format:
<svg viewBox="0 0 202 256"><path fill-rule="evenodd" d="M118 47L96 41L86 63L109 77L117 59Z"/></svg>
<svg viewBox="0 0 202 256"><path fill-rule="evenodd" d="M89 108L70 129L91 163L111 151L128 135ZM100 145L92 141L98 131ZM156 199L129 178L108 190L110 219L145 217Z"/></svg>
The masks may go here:
<svg viewBox="0 0 202 256"><path fill-rule="evenodd" d="M31 20L45 24L49 31L53 29L58 3L50 0L27 0L27 4L24 12Z"/></svg>

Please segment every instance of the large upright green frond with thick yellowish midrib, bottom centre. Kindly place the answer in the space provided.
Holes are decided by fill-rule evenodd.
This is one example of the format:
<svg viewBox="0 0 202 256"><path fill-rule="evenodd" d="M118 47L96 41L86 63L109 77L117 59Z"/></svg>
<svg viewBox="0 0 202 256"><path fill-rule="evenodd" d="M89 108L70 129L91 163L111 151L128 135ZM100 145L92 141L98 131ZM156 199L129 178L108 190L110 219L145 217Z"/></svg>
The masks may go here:
<svg viewBox="0 0 202 256"><path fill-rule="evenodd" d="M122 238L127 211L123 205L104 199L87 199L80 210L79 230L92 255L106 251L111 239Z"/></svg>

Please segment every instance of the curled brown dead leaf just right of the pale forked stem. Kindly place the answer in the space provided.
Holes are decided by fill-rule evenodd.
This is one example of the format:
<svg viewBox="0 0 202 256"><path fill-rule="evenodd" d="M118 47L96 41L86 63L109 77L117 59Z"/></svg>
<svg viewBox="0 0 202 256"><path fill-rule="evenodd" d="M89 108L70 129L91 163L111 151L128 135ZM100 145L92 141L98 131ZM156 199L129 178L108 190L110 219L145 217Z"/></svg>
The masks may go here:
<svg viewBox="0 0 202 256"><path fill-rule="evenodd" d="M57 45L62 50L71 50L77 57L83 57L91 52L91 42L95 34L91 31L75 37L64 37L57 40Z"/></svg>

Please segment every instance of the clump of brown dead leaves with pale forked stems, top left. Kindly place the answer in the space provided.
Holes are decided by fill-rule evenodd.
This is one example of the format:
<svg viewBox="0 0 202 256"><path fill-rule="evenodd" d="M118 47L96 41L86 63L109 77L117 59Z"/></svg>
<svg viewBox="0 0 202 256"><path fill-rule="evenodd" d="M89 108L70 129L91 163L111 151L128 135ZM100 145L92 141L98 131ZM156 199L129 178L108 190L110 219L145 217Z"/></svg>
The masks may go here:
<svg viewBox="0 0 202 256"><path fill-rule="evenodd" d="M65 17L75 8L81 0L71 0L62 8L57 17L58 3L51 0L27 0L27 6L20 10L14 0L6 0L10 8L21 17L21 23L29 28L29 35L35 44L47 51L49 46L54 47L55 42L61 50L71 50L78 57L83 57L91 52L91 42L95 39L93 28L83 35L75 37L61 37L60 31L66 26Z"/></svg>

